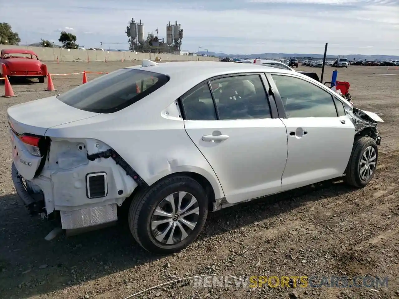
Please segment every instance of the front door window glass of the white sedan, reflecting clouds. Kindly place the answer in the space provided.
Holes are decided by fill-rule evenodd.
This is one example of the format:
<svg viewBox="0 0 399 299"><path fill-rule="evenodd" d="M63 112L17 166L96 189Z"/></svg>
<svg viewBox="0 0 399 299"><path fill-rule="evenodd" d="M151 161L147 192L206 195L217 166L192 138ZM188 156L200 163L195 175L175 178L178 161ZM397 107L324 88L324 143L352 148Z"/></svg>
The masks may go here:
<svg viewBox="0 0 399 299"><path fill-rule="evenodd" d="M300 78L272 75L287 117L336 117L332 95Z"/></svg>

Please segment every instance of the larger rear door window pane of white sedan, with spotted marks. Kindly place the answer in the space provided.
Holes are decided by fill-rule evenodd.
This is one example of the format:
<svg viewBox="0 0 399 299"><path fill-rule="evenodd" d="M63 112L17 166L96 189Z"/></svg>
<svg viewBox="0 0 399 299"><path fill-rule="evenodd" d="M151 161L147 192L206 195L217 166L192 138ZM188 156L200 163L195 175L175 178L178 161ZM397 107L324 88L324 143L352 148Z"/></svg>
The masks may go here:
<svg viewBox="0 0 399 299"><path fill-rule="evenodd" d="M211 81L221 120L271 118L259 75L225 77Z"/></svg>

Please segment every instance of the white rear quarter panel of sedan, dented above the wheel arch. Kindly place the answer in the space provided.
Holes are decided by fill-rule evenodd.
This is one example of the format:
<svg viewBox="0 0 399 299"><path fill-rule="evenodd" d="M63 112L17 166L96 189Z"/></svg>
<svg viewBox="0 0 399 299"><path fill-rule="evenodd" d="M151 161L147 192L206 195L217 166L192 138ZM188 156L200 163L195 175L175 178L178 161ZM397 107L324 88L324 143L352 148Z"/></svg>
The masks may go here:
<svg viewBox="0 0 399 299"><path fill-rule="evenodd" d="M177 101L180 91L173 89L176 85L170 84L119 112L55 126L45 135L100 140L117 151L148 185L173 173L198 173L211 183L215 198L222 198L215 172L184 130Z"/></svg>

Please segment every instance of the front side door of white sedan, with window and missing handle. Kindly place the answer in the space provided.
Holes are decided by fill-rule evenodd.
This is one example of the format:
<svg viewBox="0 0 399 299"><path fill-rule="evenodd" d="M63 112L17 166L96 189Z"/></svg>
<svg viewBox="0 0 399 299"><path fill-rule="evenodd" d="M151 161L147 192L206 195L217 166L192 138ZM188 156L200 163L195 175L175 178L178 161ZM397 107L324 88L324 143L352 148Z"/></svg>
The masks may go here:
<svg viewBox="0 0 399 299"><path fill-rule="evenodd" d="M355 127L338 98L294 75L268 75L277 86L287 129L288 158L282 189L339 177L352 151ZM272 83L272 84L273 84Z"/></svg>

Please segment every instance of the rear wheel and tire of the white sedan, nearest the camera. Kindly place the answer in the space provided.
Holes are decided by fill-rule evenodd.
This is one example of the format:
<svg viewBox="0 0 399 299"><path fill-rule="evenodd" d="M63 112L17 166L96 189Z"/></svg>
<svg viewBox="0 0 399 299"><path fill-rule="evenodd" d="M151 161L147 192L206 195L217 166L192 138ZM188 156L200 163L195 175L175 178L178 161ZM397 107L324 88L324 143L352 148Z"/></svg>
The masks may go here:
<svg viewBox="0 0 399 299"><path fill-rule="evenodd" d="M208 214L203 187L186 176L161 179L138 193L129 209L134 239L154 254L172 254L192 243Z"/></svg>

